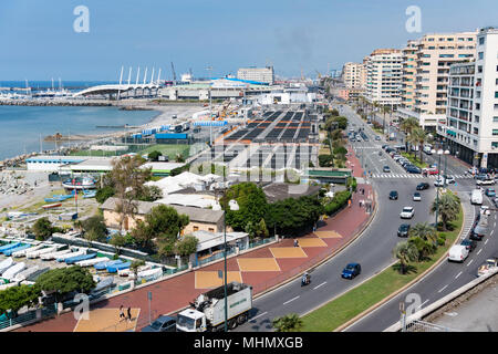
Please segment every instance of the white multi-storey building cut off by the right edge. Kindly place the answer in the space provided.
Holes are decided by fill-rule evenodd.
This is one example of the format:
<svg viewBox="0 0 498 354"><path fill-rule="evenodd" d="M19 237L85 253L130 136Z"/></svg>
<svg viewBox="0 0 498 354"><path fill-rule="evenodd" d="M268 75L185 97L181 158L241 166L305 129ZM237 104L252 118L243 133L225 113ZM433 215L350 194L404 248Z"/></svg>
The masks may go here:
<svg viewBox="0 0 498 354"><path fill-rule="evenodd" d="M498 167L498 29L479 30L474 62L449 69L446 122L437 125L449 150L479 167Z"/></svg>

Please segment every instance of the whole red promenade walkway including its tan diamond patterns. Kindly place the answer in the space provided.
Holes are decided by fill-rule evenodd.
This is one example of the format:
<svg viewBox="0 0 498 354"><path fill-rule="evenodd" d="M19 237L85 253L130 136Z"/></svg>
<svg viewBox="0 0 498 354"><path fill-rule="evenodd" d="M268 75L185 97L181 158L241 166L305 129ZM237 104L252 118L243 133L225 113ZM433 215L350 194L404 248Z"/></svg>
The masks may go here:
<svg viewBox="0 0 498 354"><path fill-rule="evenodd" d="M362 175L360 162L355 156L349 156L347 158L350 164L354 165L353 175L360 177ZM364 189L364 194L360 191L362 189ZM360 184L357 191L353 195L352 205L332 218L321 221L315 232L298 238L299 247L294 247L293 239L282 239L278 243L228 259L228 281L238 280L251 284L253 293L258 294L313 267L347 243L367 222L370 215L365 212L364 207L360 206L360 200L366 199L369 195L372 195L371 185ZM18 331L72 332L76 329L92 332L113 331L113 329L124 331L122 330L123 326L117 325L120 321L116 310L120 305L125 309L131 306L138 313L136 319L136 330L138 331L148 324L148 292L152 292L153 295L151 309L154 320L159 314L188 306L188 303L198 294L210 288L221 285L221 279L218 278L219 270L224 270L222 260L102 301L92 306L90 320L80 320L80 323L70 312ZM115 311L104 312L103 309ZM106 313L111 316L110 319L103 317ZM102 327L103 323L114 322L116 324Z"/></svg>

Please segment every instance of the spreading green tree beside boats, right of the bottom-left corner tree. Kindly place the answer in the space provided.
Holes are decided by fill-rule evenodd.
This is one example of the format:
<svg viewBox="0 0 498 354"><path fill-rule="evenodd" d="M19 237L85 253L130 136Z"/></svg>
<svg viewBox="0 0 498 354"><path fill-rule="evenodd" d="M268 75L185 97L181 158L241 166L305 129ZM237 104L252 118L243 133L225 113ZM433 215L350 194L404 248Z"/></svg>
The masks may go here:
<svg viewBox="0 0 498 354"><path fill-rule="evenodd" d="M90 271L80 266L51 269L41 274L34 284L37 291L54 292L58 302L74 291L89 293L95 285Z"/></svg>

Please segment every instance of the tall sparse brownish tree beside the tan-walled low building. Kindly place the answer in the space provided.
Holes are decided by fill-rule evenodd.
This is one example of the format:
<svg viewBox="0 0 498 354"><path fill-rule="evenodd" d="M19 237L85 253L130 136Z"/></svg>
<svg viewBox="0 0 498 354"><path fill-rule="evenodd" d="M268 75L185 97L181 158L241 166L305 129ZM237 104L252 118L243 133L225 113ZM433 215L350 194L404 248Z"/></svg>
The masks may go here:
<svg viewBox="0 0 498 354"><path fill-rule="evenodd" d="M126 218L135 215L136 198L144 194L144 183L152 177L151 168L141 168L145 159L138 155L113 160L110 178L114 185L116 211L120 214L120 231Z"/></svg>

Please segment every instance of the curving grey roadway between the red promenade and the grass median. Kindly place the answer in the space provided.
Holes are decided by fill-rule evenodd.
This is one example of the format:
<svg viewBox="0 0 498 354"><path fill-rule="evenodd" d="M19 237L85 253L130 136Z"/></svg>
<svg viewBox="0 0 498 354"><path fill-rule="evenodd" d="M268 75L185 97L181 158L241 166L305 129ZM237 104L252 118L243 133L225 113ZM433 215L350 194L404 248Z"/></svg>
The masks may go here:
<svg viewBox="0 0 498 354"><path fill-rule="evenodd" d="M363 125L363 122L352 111L343 113L352 124ZM353 126L354 127L354 126ZM385 142L374 140L374 132L365 125L365 133L370 137L369 142L354 144L354 148L363 155L363 164L373 170L381 170L384 165L388 165L393 171L405 174L385 153L378 156L381 146ZM374 148L372 148L374 146ZM413 176L412 176L413 177ZM271 321L281 315L294 312L304 314L330 299L338 296L364 279L378 273L382 269L394 261L392 249L401 239L397 237L397 228L405 222L400 218L400 212L404 206L414 206L415 216L408 223L427 221L429 205L435 198L435 189L424 190L422 201L413 201L415 186L423 179L419 178L385 178L375 179L373 185L377 195L377 214L374 221L365 229L363 235L345 248L331 260L317 268L312 272L312 283L301 288L300 279L297 279L277 290L269 292L253 302L253 310L250 321L239 326L236 331L271 331ZM397 190L398 200L390 200L388 192ZM342 269L349 262L360 262L362 274L354 280L344 280L340 277Z"/></svg>

